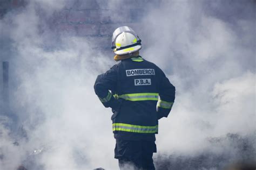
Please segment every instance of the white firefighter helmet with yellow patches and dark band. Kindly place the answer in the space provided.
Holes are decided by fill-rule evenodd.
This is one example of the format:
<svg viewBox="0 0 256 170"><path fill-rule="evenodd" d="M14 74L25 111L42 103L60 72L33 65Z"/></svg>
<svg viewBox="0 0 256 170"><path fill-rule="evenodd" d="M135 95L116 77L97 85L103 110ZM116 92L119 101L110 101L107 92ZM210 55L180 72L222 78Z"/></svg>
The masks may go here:
<svg viewBox="0 0 256 170"><path fill-rule="evenodd" d="M118 55L131 54L142 48L141 41L130 27L121 26L113 32L112 49Z"/></svg>

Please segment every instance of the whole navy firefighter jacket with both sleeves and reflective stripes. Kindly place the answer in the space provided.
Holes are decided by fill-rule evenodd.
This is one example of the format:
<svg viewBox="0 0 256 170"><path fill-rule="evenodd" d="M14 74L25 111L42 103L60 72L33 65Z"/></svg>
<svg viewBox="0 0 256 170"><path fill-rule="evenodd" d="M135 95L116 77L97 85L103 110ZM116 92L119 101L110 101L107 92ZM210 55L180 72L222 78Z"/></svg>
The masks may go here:
<svg viewBox="0 0 256 170"><path fill-rule="evenodd" d="M98 75L95 93L112 108L114 138L156 140L158 119L171 111L175 87L164 72L141 56L122 60Z"/></svg>

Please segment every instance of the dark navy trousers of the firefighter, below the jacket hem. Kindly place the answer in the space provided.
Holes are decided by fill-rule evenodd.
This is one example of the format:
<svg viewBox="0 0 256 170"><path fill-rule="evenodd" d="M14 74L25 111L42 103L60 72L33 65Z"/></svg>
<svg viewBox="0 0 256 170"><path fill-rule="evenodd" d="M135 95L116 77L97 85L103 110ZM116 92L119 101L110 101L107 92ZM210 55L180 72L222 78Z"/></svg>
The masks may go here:
<svg viewBox="0 0 256 170"><path fill-rule="evenodd" d="M116 139L114 158L118 159L119 168L125 169L155 169L153 153L157 152L154 141L131 141Z"/></svg>

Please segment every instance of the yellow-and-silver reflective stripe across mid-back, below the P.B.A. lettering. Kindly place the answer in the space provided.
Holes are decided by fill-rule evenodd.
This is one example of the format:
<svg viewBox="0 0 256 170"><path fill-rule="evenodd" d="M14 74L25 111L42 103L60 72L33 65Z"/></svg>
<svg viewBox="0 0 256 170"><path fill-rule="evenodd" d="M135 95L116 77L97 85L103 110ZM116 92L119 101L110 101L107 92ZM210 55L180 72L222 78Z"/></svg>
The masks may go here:
<svg viewBox="0 0 256 170"><path fill-rule="evenodd" d="M158 93L134 93L134 94L123 94L118 96L129 101L158 101Z"/></svg>

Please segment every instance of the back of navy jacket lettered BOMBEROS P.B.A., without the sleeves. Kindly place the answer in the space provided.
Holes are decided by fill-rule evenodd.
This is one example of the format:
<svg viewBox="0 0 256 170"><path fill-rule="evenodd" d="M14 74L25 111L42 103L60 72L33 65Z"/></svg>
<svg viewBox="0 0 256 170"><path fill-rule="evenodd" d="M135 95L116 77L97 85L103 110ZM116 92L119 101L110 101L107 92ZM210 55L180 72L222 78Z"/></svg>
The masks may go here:
<svg viewBox="0 0 256 170"><path fill-rule="evenodd" d="M122 100L122 104L112 119L114 133L129 132L152 136L158 132L158 79L158 67L140 56L122 60L118 64L115 93Z"/></svg>

